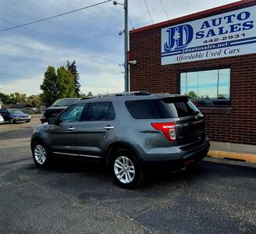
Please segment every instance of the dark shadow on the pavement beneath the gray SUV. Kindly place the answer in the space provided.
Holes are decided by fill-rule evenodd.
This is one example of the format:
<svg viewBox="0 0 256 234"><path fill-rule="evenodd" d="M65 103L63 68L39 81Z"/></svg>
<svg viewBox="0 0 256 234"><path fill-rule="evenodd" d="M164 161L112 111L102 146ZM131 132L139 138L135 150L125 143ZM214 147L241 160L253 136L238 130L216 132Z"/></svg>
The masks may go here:
<svg viewBox="0 0 256 234"><path fill-rule="evenodd" d="M84 177L84 183L87 177L94 180L95 183L102 184L108 181L113 183L111 173L103 163L91 161L74 161L70 159L62 159L54 161L48 168L37 168L36 165L30 164L25 167L28 171L36 171L41 176L79 176ZM255 168L246 167L244 165L226 165L212 161L201 161L190 169L180 169L176 171L153 171L148 172L148 177L141 188L150 189L155 186L165 186L166 184L179 186L179 183L197 183L198 181L211 180L214 178L228 177L244 177L256 178ZM103 180L102 180L103 179Z"/></svg>

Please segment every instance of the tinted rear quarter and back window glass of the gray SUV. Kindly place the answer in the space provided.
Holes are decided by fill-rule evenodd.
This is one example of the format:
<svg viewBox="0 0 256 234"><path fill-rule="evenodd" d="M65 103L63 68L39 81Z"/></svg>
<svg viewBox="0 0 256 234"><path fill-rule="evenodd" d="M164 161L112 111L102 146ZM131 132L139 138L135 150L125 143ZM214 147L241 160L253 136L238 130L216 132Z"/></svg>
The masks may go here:
<svg viewBox="0 0 256 234"><path fill-rule="evenodd" d="M169 119L200 113L187 97L126 101L134 119Z"/></svg>

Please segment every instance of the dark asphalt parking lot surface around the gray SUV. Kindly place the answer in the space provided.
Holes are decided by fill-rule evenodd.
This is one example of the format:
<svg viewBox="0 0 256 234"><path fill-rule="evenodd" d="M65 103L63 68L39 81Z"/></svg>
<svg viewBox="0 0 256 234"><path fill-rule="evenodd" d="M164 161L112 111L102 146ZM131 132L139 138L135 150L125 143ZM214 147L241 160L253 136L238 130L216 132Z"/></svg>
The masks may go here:
<svg viewBox="0 0 256 234"><path fill-rule="evenodd" d="M1 233L255 233L255 164L206 158L123 190L103 165L36 168L37 123L0 126Z"/></svg>

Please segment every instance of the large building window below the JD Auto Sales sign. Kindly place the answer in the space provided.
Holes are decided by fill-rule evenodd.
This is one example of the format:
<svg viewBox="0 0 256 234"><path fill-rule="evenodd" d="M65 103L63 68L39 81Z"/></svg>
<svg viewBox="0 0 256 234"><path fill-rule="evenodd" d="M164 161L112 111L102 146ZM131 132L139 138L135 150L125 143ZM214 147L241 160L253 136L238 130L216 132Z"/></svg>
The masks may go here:
<svg viewBox="0 0 256 234"><path fill-rule="evenodd" d="M180 94L190 96L197 106L229 106L230 69L180 73Z"/></svg>

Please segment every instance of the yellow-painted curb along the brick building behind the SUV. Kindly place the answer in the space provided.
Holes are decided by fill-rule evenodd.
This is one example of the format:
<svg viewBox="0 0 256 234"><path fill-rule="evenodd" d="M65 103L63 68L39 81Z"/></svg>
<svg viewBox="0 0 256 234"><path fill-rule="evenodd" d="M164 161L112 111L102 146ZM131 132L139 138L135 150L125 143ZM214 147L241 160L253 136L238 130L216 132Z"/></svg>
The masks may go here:
<svg viewBox="0 0 256 234"><path fill-rule="evenodd" d="M247 162L256 163L256 154L243 154L243 153L211 150L211 151L208 151L208 156L212 158L230 158L230 159L243 160Z"/></svg>

